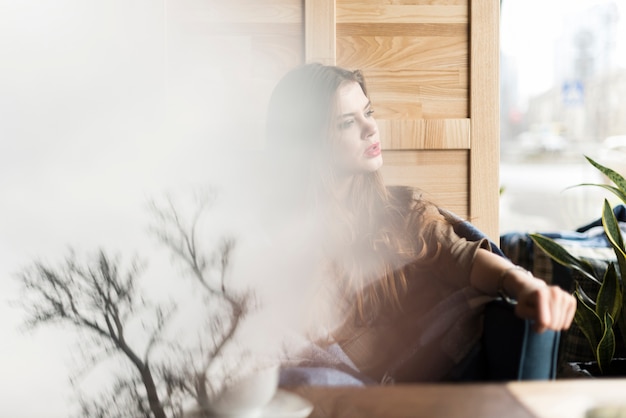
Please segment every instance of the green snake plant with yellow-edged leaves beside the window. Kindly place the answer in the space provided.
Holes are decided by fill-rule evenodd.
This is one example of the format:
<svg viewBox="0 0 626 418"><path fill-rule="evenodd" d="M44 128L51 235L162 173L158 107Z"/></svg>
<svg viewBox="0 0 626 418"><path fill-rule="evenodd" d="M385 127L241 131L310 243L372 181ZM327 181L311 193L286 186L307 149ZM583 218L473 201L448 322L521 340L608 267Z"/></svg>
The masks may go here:
<svg viewBox="0 0 626 418"><path fill-rule="evenodd" d="M626 180L616 171L605 167L589 157L589 163L604 174L613 184L584 183L578 186L602 187L615 194L626 205ZM607 199L602 207L602 227L615 253L615 261L608 263L600 272L583 257L572 255L554 239L542 234L530 234L535 245L555 262L578 271L583 279L597 286L597 294L591 297L579 281L575 283L574 296L578 301L574 322L589 342L600 375L615 374L614 363L616 334L626 345L626 247L619 223ZM616 333L616 330L619 332ZM620 372L618 372L620 373Z"/></svg>

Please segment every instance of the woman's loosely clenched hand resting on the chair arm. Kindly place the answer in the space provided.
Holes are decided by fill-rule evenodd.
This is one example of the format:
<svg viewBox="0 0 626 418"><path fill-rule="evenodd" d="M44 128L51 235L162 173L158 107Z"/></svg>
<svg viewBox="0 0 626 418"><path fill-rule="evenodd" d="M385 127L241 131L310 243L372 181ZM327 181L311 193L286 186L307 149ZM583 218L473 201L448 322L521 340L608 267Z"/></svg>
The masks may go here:
<svg viewBox="0 0 626 418"><path fill-rule="evenodd" d="M576 299L558 286L547 286L545 282L543 285L529 283L517 293L515 314L533 320L536 332L566 330L575 313Z"/></svg>

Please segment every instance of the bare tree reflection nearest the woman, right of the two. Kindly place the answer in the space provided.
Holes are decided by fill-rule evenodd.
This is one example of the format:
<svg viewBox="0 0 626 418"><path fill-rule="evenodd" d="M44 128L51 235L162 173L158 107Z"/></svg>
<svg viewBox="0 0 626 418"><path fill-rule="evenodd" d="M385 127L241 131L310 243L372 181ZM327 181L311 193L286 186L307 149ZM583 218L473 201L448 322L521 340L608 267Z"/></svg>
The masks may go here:
<svg viewBox="0 0 626 418"><path fill-rule="evenodd" d="M171 199L165 204L153 203L151 206L158 221L152 232L178 261L183 262L191 277L204 290L205 304L211 312L206 337L199 341L199 346L194 350L179 348L179 354L184 353L182 364L174 367L170 365L162 370L168 390L182 390L192 395L202 406L208 405L210 395L219 389L213 385L208 373L233 340L252 302L250 292L237 292L226 287L226 273L234 240L222 238L212 252L200 248L199 224L211 202L211 196L203 198L188 223L180 217L180 211Z"/></svg>

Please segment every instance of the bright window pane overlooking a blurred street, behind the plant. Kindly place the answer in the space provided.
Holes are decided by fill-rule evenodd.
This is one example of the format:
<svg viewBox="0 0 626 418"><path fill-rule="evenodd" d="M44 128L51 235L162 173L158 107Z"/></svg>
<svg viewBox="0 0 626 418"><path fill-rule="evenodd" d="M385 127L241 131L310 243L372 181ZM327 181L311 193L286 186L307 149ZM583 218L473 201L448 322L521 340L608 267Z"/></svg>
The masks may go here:
<svg viewBox="0 0 626 418"><path fill-rule="evenodd" d="M626 2L503 0L500 232L576 229L626 174ZM615 202L617 203L617 202Z"/></svg>

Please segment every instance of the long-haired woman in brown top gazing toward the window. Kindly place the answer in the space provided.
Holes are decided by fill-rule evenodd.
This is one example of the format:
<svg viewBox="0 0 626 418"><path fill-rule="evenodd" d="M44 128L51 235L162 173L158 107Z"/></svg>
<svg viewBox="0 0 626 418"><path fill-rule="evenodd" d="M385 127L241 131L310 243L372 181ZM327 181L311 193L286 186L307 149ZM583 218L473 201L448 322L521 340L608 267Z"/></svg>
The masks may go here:
<svg viewBox="0 0 626 418"><path fill-rule="evenodd" d="M340 295L324 343L376 381L440 380L476 343L484 305L498 294L516 299L536 331L567 329L569 293L492 253L487 240L459 237L416 191L385 187L373 113L359 71L320 64L289 72L270 101L275 198L286 209L278 218L313 219L321 275Z"/></svg>

